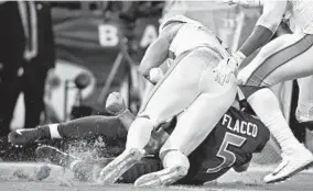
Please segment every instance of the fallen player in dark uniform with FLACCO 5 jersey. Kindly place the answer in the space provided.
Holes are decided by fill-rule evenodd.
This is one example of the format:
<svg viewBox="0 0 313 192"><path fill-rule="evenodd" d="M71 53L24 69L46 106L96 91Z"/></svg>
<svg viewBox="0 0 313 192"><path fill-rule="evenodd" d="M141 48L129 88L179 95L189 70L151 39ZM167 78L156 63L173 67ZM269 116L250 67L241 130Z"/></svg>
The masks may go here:
<svg viewBox="0 0 313 192"><path fill-rule="evenodd" d="M126 109L125 102L118 93L109 95L107 109L117 115L112 117L83 117L67 123L14 131L9 135L9 140L14 145L23 146L43 138L83 139L98 135L125 140L125 133L134 120L134 116ZM121 124L125 126L122 127ZM144 157L142 161L136 163L134 167L123 173L119 182L133 183L145 173L150 173L148 176L158 176L158 172L153 171L162 169L161 161L150 156L158 154L174 126L175 123L171 122L162 127L162 131L165 132L159 131L154 135L154 142L151 140L149 147L145 148L149 157ZM219 120L209 136L188 156L191 162L188 173L176 183L203 184L219 178L231 168L237 172L247 170L252 154L262 150L269 136L269 131L258 118L236 108L230 108ZM71 169L77 178L84 180L93 179L93 176L97 178L101 168L112 160L112 158L83 160L50 146L40 146L36 149L36 155L39 158L48 158L52 163ZM145 182L145 179L151 177L143 176L137 180L136 185L152 187L170 183L162 183L164 180L162 177L160 180L154 179Z"/></svg>

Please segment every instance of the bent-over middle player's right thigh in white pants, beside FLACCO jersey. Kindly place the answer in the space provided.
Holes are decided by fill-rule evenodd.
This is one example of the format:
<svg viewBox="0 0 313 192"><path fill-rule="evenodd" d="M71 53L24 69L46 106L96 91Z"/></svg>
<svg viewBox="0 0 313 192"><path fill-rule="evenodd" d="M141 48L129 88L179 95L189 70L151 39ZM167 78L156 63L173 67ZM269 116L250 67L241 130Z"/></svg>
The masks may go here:
<svg viewBox="0 0 313 192"><path fill-rule="evenodd" d="M177 149L190 155L209 135L220 117L233 104L236 86L223 93L201 94L177 118L176 127L161 148L164 151Z"/></svg>

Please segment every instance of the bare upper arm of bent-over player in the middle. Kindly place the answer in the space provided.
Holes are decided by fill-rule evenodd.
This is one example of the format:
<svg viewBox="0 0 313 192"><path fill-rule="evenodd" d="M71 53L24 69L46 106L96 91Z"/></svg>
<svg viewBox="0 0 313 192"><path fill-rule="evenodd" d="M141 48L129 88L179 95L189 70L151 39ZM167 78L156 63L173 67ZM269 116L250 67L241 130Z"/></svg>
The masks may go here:
<svg viewBox="0 0 313 192"><path fill-rule="evenodd" d="M169 57L169 47L180 26L180 24L169 24L165 26L165 29L160 33L159 37L145 50L145 54L139 66L139 71L148 80L150 80L150 70L152 68L160 67Z"/></svg>

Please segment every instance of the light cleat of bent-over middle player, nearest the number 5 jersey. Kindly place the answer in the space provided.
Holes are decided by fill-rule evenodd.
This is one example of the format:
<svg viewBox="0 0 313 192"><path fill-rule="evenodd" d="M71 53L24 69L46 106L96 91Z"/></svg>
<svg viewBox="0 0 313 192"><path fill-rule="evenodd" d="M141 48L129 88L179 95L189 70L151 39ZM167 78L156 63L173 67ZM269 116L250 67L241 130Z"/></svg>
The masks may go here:
<svg viewBox="0 0 313 192"><path fill-rule="evenodd" d="M136 180L134 187L164 187L173 184L187 174L183 167L165 168L161 171L144 174Z"/></svg>

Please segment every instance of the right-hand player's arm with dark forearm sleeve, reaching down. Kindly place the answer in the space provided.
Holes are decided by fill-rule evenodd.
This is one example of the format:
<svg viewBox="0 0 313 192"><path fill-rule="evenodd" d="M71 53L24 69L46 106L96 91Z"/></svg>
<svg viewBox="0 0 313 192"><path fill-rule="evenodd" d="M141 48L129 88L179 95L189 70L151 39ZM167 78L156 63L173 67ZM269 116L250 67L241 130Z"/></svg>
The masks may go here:
<svg viewBox="0 0 313 192"><path fill-rule="evenodd" d="M266 1L262 15L259 18L252 34L239 48L239 53L247 57L267 44L281 23L285 7L287 0Z"/></svg>

